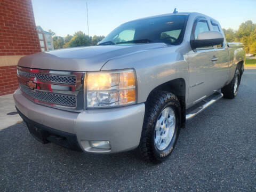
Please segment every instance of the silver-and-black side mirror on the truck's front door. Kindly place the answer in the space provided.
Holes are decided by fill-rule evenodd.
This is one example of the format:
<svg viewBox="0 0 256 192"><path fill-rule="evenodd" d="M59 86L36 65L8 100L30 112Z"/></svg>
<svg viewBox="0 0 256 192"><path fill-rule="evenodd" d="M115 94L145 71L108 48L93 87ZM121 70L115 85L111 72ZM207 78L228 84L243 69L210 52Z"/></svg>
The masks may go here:
<svg viewBox="0 0 256 192"><path fill-rule="evenodd" d="M224 37L218 31L206 31L199 33L197 39L191 39L190 45L192 49L196 49L198 47L219 45L222 44L223 41Z"/></svg>

